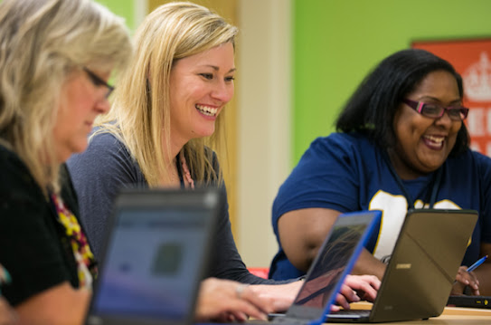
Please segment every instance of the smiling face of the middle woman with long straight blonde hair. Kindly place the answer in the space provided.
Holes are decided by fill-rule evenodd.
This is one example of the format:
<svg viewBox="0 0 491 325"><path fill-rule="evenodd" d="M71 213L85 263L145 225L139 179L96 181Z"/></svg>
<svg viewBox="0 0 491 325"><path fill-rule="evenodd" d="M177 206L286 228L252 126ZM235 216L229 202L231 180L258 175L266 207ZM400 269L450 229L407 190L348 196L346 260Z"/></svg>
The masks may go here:
<svg viewBox="0 0 491 325"><path fill-rule="evenodd" d="M175 62L170 75L171 140L179 147L194 138L211 136L215 120L233 97L233 45Z"/></svg>

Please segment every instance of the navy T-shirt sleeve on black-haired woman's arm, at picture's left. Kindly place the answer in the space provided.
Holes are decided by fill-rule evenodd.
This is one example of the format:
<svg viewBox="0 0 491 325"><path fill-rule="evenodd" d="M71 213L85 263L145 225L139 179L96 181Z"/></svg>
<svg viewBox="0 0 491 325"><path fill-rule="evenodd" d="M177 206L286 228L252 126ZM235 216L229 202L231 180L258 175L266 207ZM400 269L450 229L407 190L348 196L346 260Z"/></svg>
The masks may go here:
<svg viewBox="0 0 491 325"><path fill-rule="evenodd" d="M312 142L279 188L273 204L273 227L278 236L278 220L288 211L325 207L340 212L359 206L360 159L356 144L345 135L333 134Z"/></svg>

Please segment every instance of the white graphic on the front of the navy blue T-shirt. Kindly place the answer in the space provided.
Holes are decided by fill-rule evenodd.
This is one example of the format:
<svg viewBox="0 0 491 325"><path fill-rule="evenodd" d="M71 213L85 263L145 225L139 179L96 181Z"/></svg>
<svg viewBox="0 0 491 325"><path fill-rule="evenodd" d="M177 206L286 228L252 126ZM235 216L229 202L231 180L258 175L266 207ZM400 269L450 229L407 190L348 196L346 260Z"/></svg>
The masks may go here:
<svg viewBox="0 0 491 325"><path fill-rule="evenodd" d="M423 202L417 200L414 203L414 207L428 207L428 204L423 206ZM460 209L459 206L449 200L439 201L433 207L436 209ZM394 196L379 190L370 201L369 209L382 211L382 223L379 237L373 250L373 256L379 260L386 261L392 254L395 242L401 231L402 223L408 211L408 203L405 196Z"/></svg>

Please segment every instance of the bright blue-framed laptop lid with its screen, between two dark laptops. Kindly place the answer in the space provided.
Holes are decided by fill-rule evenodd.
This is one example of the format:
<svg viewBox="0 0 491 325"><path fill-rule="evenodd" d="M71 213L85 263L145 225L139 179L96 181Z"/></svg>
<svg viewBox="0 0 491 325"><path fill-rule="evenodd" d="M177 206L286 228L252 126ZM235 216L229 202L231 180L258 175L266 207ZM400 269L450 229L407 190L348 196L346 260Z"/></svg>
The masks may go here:
<svg viewBox="0 0 491 325"><path fill-rule="evenodd" d="M381 215L380 211L362 211L338 216L297 298L288 308L287 319L306 320L311 324L324 322L345 276L351 272Z"/></svg>

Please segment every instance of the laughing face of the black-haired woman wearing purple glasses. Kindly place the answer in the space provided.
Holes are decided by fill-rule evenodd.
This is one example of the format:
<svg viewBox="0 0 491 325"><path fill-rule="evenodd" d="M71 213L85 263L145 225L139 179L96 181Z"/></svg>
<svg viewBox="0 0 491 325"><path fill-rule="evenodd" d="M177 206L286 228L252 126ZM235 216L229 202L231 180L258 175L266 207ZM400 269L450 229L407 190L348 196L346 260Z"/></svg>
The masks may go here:
<svg viewBox="0 0 491 325"><path fill-rule="evenodd" d="M430 72L406 98L444 107L461 103L457 81L446 71ZM450 119L447 112L439 119L430 119L401 103L393 125L397 146L389 152L392 165L402 179L411 179L428 174L445 162L462 121Z"/></svg>

